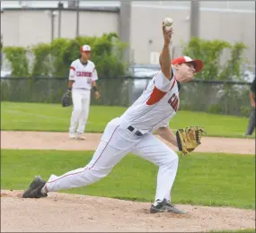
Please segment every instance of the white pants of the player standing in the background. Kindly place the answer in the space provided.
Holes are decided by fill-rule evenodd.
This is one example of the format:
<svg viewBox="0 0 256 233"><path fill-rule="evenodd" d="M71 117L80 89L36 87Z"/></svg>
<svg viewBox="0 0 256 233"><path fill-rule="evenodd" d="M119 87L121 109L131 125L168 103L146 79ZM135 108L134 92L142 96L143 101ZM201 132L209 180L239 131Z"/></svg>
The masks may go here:
<svg viewBox="0 0 256 233"><path fill-rule="evenodd" d="M86 89L73 89L73 112L70 119L69 134L84 134L85 125L89 116L91 91Z"/></svg>

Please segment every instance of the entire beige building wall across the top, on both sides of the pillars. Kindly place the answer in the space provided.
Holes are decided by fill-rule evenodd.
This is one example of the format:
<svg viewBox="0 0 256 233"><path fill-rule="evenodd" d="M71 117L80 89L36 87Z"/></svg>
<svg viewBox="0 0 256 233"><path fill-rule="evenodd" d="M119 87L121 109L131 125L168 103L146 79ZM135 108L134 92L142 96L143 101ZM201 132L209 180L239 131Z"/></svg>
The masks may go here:
<svg viewBox="0 0 256 233"><path fill-rule="evenodd" d="M164 9L133 5L130 19L131 59L137 64L148 64L151 52L158 52L163 45L162 20L172 17L175 55L181 54L181 40L190 39L190 21L186 21L190 8ZM55 17L55 37L57 37ZM61 37L74 38L75 11L63 11ZM119 32L118 12L80 12L80 35L102 36L104 32ZM6 10L1 13L1 33L4 46L30 46L51 39L51 21L45 10ZM199 35L203 39L243 41L249 49L246 56L255 63L255 12L200 11Z"/></svg>

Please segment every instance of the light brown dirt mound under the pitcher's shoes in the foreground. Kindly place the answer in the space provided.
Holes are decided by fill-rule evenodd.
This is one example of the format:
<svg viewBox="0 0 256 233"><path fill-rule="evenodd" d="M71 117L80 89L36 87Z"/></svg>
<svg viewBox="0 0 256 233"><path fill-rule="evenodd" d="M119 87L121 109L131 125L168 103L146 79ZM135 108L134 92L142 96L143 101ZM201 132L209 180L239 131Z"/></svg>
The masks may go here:
<svg viewBox="0 0 256 233"><path fill-rule="evenodd" d="M1 191L2 232L202 232L255 228L252 210L178 204L188 214L150 214L151 203L78 194L50 193L41 199L21 196L22 191Z"/></svg>

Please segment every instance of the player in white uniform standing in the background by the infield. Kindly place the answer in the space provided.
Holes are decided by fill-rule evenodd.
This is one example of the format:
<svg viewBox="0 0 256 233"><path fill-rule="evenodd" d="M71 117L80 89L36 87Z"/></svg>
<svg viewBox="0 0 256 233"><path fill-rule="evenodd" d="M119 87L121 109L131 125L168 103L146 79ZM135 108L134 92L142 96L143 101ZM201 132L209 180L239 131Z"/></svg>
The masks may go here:
<svg viewBox="0 0 256 233"><path fill-rule="evenodd" d="M90 61L91 47L81 47L81 57L70 65L68 94L72 91L73 112L70 119L69 137L82 139L85 125L89 116L91 101L91 89L93 88L95 99L100 98L100 92L96 86L98 74L95 65Z"/></svg>

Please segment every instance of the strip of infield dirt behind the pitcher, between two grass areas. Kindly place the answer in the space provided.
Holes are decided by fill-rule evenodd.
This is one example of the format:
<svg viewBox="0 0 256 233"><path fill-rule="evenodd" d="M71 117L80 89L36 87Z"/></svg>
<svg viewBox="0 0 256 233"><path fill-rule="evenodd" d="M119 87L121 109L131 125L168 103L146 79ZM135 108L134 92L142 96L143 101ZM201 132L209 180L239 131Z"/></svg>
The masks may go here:
<svg viewBox="0 0 256 233"><path fill-rule="evenodd" d="M93 151L101 140L102 134L84 134L86 140L69 139L66 133L48 132L1 132L2 149L68 150ZM177 151L171 143L166 142ZM255 154L253 139L203 137L199 152L223 152L237 154Z"/></svg>

